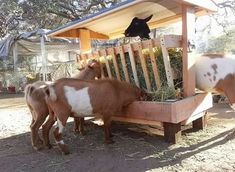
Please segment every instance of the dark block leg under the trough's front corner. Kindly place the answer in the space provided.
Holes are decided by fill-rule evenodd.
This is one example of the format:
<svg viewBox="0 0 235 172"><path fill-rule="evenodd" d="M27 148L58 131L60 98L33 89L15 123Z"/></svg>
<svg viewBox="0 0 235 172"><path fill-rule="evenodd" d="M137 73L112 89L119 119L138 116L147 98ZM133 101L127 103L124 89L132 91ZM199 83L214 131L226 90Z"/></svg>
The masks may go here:
<svg viewBox="0 0 235 172"><path fill-rule="evenodd" d="M167 142L177 143L181 138L181 123L163 123L164 138Z"/></svg>

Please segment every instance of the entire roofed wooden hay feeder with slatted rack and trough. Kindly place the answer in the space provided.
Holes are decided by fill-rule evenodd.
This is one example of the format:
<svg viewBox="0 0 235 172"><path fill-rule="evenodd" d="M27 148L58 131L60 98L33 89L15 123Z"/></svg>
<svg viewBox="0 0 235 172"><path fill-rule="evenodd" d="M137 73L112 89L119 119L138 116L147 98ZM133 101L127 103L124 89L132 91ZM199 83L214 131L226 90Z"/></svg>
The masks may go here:
<svg viewBox="0 0 235 172"><path fill-rule="evenodd" d="M205 112L212 107L211 94L195 94L194 56L188 51L188 41L194 38L195 15L215 11L215 9L211 0L127 0L116 8L55 29L48 36L79 38L81 44L79 62L90 58L102 58L109 78L125 80L142 87L136 69L138 56L148 91L154 88L150 81L146 58L151 61L155 85L160 88L161 80L154 48L161 48L168 86L174 86L168 49L182 48L184 99L174 102L134 102L125 109L123 114L113 118L117 121L161 125L166 141L176 143L181 136L181 125L192 122L193 128L202 129L205 126ZM120 37L133 17L144 18L149 14L153 14L153 19L149 23L151 28L181 20L182 36L166 35L143 42L91 51L91 39ZM147 57L143 53L146 49ZM132 75L128 71L126 54L129 57ZM122 71L118 66L120 62L118 64L117 57L121 61Z"/></svg>

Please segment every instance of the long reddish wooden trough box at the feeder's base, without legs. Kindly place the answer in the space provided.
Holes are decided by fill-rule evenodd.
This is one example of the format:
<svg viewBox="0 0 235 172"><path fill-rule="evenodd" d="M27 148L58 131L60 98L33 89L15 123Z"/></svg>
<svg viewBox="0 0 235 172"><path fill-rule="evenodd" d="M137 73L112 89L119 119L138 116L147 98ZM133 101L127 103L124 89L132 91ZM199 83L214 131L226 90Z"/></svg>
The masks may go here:
<svg viewBox="0 0 235 172"><path fill-rule="evenodd" d="M136 101L117 116L179 123L212 106L211 94L198 94L176 102Z"/></svg>

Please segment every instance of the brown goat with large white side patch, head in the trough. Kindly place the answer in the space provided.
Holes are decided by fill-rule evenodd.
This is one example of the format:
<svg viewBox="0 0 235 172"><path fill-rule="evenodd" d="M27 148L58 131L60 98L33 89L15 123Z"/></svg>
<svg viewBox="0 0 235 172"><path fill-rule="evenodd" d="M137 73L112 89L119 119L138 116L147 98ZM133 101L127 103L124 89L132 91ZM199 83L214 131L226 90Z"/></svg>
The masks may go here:
<svg viewBox="0 0 235 172"><path fill-rule="evenodd" d="M68 147L62 139L62 131L70 114L77 117L97 116L104 122L105 143L110 138L111 116L121 112L133 101L141 100L146 93L137 86L117 80L83 81L72 78L57 80L45 88L47 104L57 120L55 140L62 153L68 154Z"/></svg>

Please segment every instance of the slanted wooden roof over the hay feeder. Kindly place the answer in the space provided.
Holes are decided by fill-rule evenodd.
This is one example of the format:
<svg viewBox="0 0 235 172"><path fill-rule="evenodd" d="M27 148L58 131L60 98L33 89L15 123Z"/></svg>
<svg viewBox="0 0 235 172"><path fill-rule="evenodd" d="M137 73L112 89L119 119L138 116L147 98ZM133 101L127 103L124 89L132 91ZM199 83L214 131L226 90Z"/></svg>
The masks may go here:
<svg viewBox="0 0 235 172"><path fill-rule="evenodd" d="M52 30L48 36L80 38L83 29L90 31L91 39L123 37L124 30L134 17L146 18L153 14L151 29L181 20L182 5L194 6L196 14L216 11L211 0L127 0L86 18L69 22Z"/></svg>

